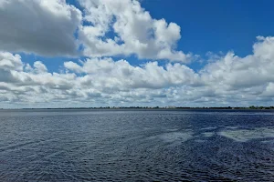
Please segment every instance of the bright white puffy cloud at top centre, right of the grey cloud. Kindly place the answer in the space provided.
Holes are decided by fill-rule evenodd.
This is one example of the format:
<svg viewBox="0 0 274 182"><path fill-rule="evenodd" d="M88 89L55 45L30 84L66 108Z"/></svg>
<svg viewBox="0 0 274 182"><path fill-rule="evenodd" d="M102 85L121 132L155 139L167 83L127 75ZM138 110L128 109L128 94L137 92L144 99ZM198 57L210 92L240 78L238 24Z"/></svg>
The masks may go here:
<svg viewBox="0 0 274 182"><path fill-rule="evenodd" d="M187 62L192 57L176 51L181 28L156 20L136 0L84 0L79 37L86 56L130 56ZM106 37L109 33L112 37Z"/></svg>

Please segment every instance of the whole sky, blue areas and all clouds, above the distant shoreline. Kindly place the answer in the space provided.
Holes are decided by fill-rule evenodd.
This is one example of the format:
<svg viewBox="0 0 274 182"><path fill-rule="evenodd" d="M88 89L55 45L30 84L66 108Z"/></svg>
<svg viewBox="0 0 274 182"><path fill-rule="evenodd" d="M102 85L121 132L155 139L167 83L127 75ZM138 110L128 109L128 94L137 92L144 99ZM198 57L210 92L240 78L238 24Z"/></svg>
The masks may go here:
<svg viewBox="0 0 274 182"><path fill-rule="evenodd" d="M0 0L0 107L274 106L273 5Z"/></svg>

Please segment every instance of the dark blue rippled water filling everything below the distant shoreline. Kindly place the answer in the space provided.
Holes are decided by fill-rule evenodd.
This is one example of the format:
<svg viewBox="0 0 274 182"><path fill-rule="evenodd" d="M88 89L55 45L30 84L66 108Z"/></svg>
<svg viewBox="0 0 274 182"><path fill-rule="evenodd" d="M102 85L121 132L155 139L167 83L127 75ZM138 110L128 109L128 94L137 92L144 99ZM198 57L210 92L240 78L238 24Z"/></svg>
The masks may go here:
<svg viewBox="0 0 274 182"><path fill-rule="evenodd" d="M274 181L274 112L2 110L0 181Z"/></svg>

